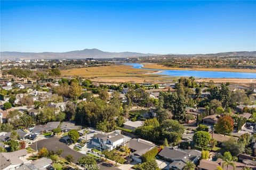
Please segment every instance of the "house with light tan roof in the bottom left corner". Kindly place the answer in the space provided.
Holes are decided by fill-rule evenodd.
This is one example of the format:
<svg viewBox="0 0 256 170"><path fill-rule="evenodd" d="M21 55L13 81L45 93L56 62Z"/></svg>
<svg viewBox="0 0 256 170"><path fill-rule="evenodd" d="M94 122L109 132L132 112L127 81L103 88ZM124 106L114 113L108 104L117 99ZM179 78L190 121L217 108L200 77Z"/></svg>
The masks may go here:
<svg viewBox="0 0 256 170"><path fill-rule="evenodd" d="M23 158L28 154L26 149L20 149L14 152L1 152L0 153L0 169L17 169L22 165Z"/></svg>

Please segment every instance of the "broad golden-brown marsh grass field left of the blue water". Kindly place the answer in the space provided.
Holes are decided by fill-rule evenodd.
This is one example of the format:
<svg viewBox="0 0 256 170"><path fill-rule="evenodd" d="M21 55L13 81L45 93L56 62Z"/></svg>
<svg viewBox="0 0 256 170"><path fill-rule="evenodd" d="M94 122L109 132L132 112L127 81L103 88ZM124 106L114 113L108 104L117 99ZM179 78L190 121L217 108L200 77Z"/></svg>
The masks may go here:
<svg viewBox="0 0 256 170"><path fill-rule="evenodd" d="M134 69L129 65L111 65L100 67L86 67L81 69L63 70L63 76L81 76L94 82L172 82L174 78L150 74L156 71Z"/></svg>

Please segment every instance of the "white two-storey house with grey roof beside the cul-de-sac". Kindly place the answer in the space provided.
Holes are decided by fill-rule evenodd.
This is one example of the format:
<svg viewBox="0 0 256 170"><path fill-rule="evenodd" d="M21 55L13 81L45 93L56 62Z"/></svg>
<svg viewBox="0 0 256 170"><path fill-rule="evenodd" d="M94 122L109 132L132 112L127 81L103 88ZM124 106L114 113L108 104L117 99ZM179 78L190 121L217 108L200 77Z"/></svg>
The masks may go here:
<svg viewBox="0 0 256 170"><path fill-rule="evenodd" d="M125 137L121 134L121 131L114 131L107 134L97 133L94 135L94 138L91 139L92 145L99 147L100 149L112 150L118 146L121 146L125 141L130 140L131 138Z"/></svg>

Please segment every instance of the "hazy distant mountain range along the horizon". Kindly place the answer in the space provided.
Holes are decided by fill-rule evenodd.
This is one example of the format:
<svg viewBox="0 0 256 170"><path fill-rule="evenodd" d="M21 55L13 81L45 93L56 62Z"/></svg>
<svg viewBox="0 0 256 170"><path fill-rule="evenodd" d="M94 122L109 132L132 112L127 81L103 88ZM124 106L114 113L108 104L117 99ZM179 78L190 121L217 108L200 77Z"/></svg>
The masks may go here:
<svg viewBox="0 0 256 170"><path fill-rule="evenodd" d="M256 51L254 52L226 52L226 53L216 53L216 54L166 54L174 56L256 56ZM121 53L111 53L103 52L102 50L84 49L84 50L74 50L71 52L63 53L53 53L53 52L43 52L43 53L26 53L26 52L1 52L0 60L12 60L18 59L83 59L83 58L114 58L114 57L143 57L143 56L164 56L163 54L145 54L145 53L135 53L135 52L121 52Z"/></svg>

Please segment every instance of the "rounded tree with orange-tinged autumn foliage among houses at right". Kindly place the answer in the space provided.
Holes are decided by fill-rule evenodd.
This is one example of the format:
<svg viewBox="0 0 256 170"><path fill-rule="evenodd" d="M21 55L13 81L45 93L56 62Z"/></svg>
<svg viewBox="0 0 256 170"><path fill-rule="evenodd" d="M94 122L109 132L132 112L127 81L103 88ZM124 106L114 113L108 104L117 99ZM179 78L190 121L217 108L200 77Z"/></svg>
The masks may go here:
<svg viewBox="0 0 256 170"><path fill-rule="evenodd" d="M215 126L217 133L230 134L234 129L234 121L231 116L221 116Z"/></svg>

